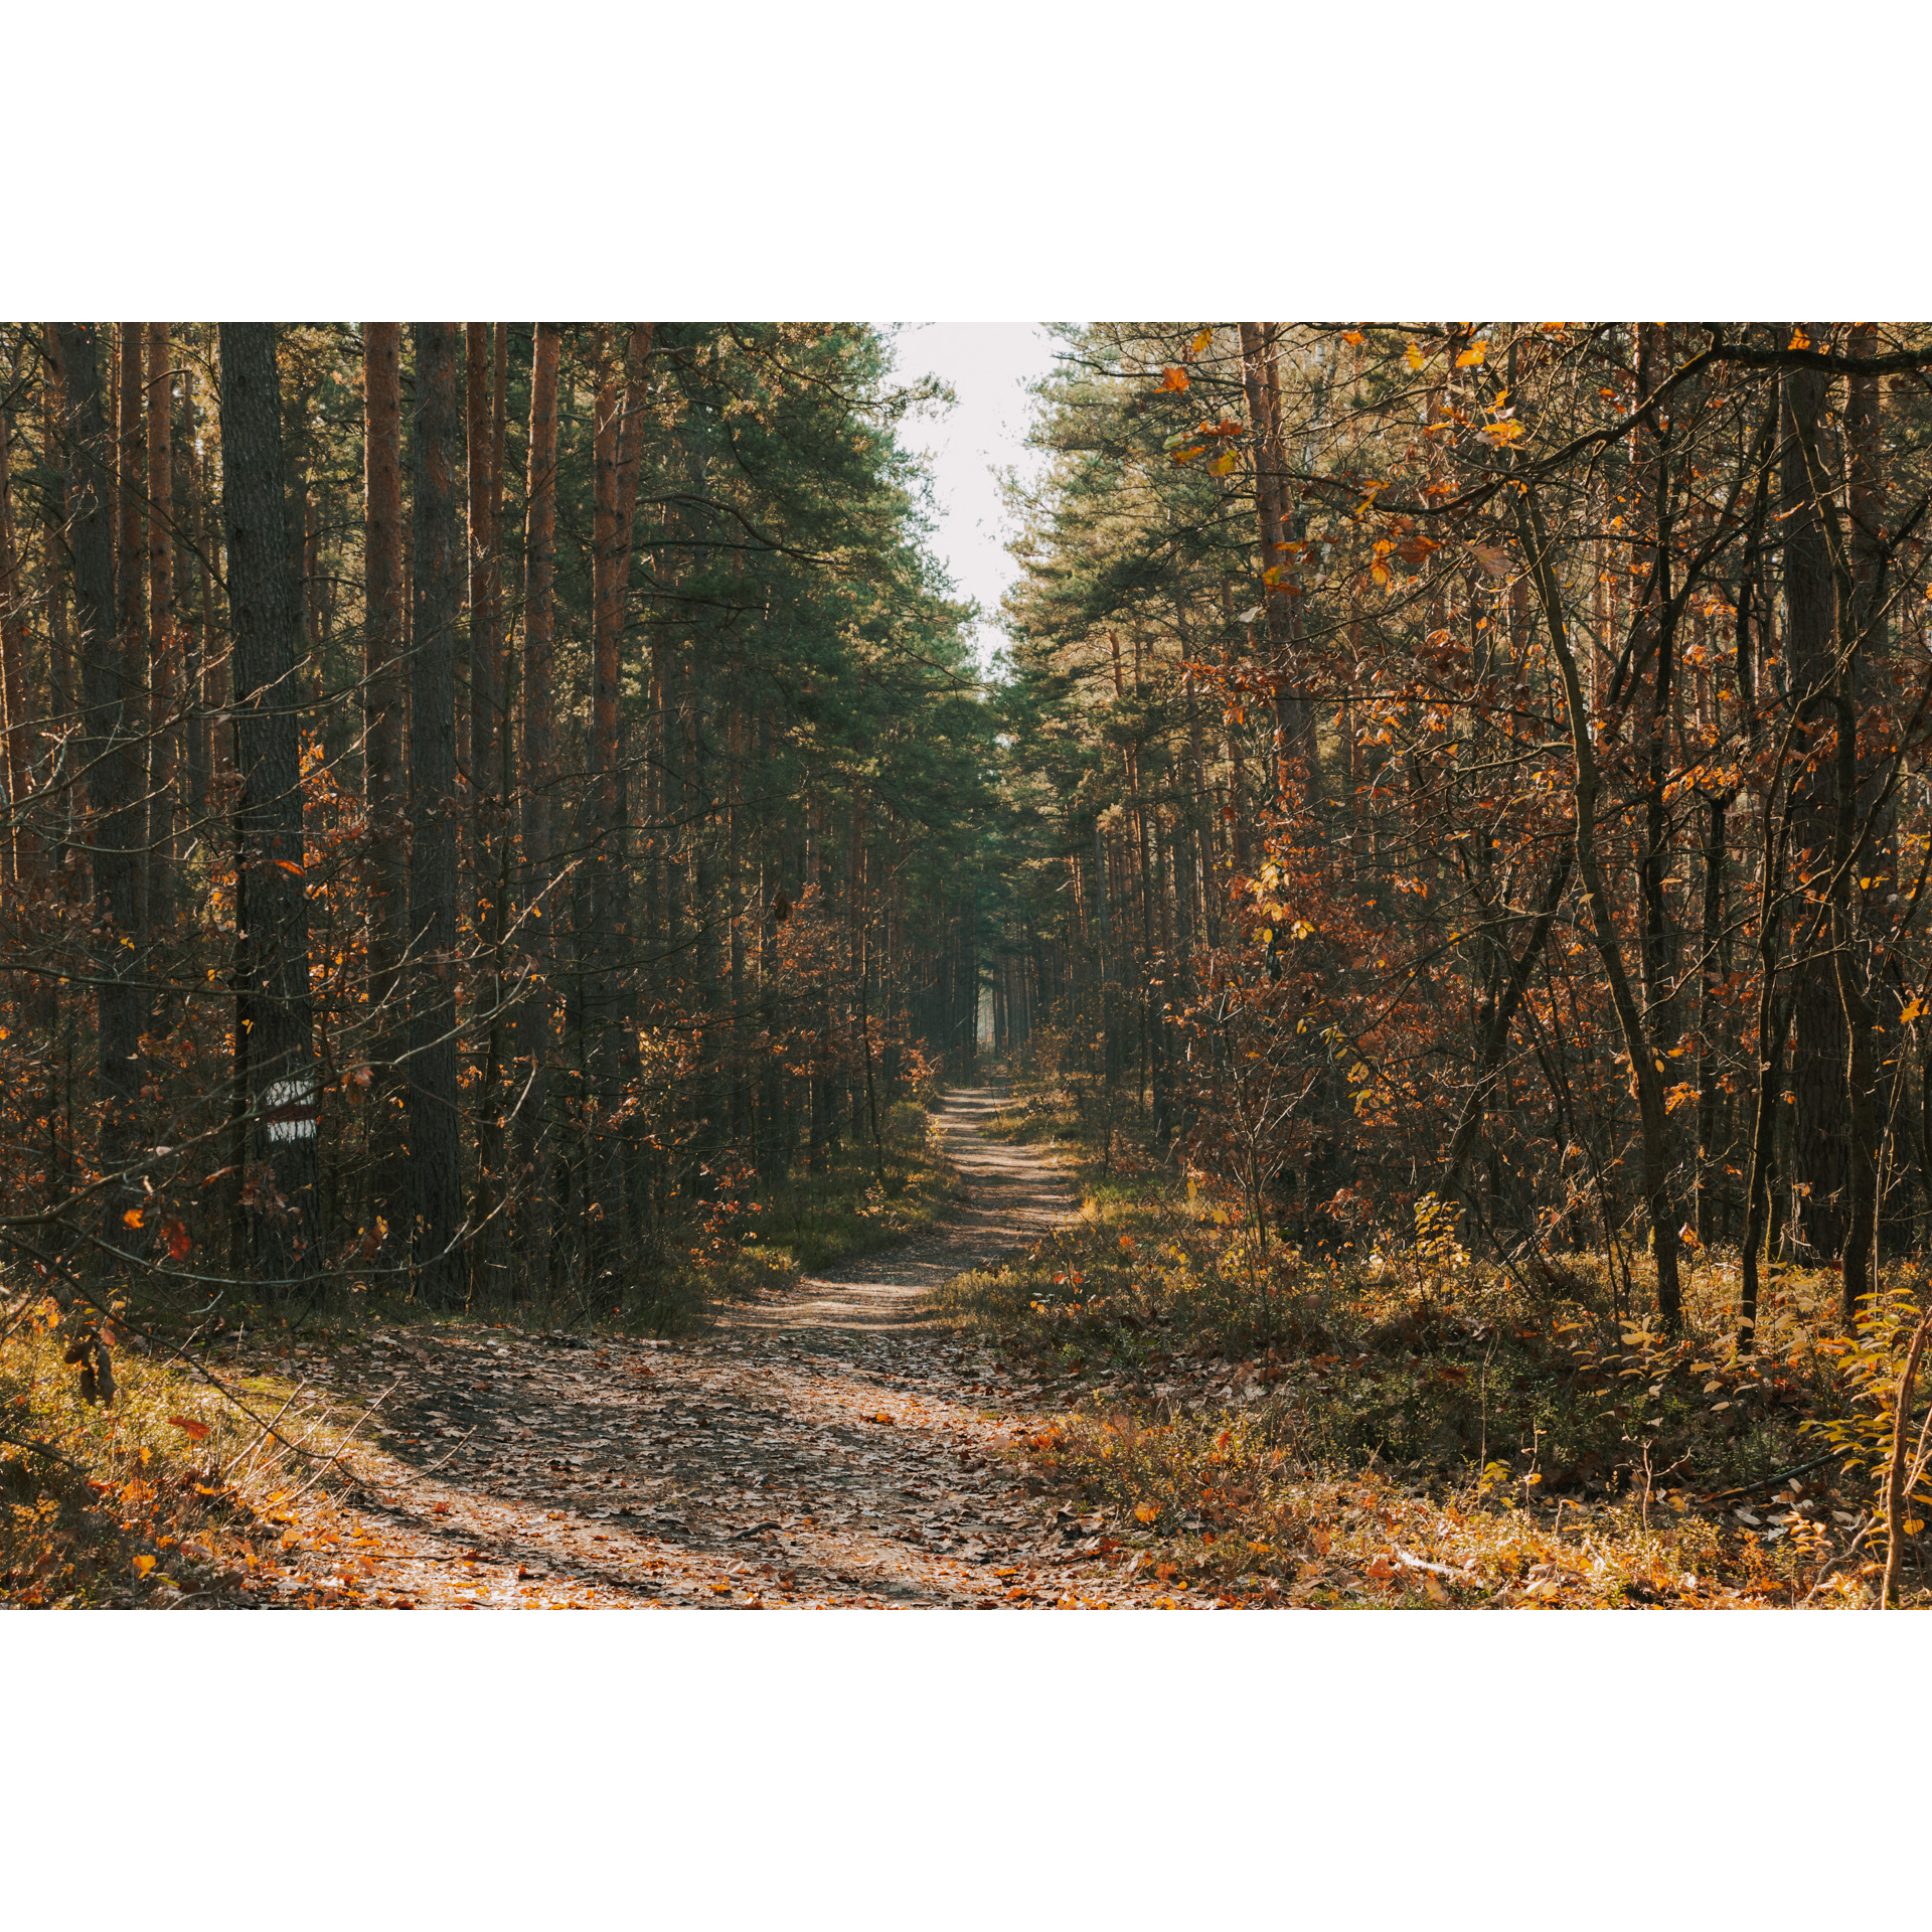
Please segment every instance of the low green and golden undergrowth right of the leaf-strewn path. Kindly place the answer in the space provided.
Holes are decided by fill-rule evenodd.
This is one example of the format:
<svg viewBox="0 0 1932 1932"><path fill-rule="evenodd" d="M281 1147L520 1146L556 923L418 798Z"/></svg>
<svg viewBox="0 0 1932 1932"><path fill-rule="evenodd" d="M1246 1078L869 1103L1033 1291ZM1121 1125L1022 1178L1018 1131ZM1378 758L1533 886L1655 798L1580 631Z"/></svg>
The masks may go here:
<svg viewBox="0 0 1932 1932"><path fill-rule="evenodd" d="M1065 1092L1007 1109L1009 1136L1080 1157L1086 1200L941 1308L1061 1395L1028 1445L1034 1484L1097 1509L1095 1548L1150 1588L1872 1602L1886 1364L1917 1277L1847 1337L1835 1275L1772 1267L1756 1352L1739 1354L1733 1256L1696 1258L1687 1331L1665 1339L1633 1316L1640 1273L1592 1256L1478 1264L1453 1209L1428 1200L1399 1233L1364 1215L1345 1260L1264 1246L1231 1196L1144 1150L1122 1163L1119 1132L1103 1179L1090 1119ZM1920 1515L1907 1511L1907 1602L1932 1602Z"/></svg>

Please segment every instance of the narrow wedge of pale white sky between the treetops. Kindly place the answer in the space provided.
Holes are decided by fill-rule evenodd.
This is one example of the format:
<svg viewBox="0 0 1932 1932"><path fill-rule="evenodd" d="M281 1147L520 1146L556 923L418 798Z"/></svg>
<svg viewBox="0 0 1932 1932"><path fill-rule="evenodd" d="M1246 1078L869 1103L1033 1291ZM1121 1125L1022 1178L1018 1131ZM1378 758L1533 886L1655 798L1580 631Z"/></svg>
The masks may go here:
<svg viewBox="0 0 1932 1932"><path fill-rule="evenodd" d="M902 381L937 375L958 396L945 415L908 423L904 440L933 473L939 527L931 549L954 593L985 609L978 636L985 665L1003 643L999 599L1014 576L995 471L1032 475L1041 464L1022 448L1032 412L1026 384L1051 367L1053 340L1039 323L900 323L896 346Z"/></svg>

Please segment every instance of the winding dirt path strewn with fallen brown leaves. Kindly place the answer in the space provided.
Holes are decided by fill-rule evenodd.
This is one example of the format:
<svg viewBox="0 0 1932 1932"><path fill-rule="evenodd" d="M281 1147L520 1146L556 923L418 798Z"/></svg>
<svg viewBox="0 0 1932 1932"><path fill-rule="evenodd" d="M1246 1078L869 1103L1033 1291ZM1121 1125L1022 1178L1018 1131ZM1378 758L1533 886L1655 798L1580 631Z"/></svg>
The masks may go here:
<svg viewBox="0 0 1932 1932"><path fill-rule="evenodd" d="M332 1364L344 1401L404 1378L388 1453L359 1459L346 1507L294 1526L305 1577L282 1600L328 1578L317 1602L425 1609L1124 1602L1097 1524L1055 1524L989 1459L1045 1397L922 1308L1072 1208L1045 1161L978 1132L995 1105L947 1097L968 1202L943 1231L736 1306L699 1341L477 1325Z"/></svg>

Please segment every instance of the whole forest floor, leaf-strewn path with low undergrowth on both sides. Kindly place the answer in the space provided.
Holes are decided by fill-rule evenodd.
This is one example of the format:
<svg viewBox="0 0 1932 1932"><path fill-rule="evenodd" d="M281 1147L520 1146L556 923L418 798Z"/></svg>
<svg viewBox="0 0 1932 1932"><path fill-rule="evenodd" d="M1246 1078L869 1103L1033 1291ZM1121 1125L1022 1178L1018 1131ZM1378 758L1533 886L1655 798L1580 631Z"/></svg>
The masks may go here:
<svg viewBox="0 0 1932 1932"><path fill-rule="evenodd" d="M1814 1271L1741 1358L1721 1265L1675 1343L1582 1262L1528 1300L1459 1252L1258 1269L1111 1111L1020 1088L949 1094L900 1196L811 1236L844 1258L742 1269L674 1339L371 1310L236 1349L226 1397L128 1352L110 1416L15 1318L0 1379L54 1441L4 1437L0 1602L1872 1602L1870 1482L1806 1434L1845 1414ZM914 1233L854 1256L881 1213Z"/></svg>

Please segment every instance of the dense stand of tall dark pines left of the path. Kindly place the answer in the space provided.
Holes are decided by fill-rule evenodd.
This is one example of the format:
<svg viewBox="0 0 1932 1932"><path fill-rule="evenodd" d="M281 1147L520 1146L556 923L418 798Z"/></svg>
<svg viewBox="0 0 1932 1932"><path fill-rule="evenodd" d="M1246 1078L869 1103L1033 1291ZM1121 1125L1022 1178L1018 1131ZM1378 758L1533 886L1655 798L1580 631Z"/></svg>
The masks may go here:
<svg viewBox="0 0 1932 1932"><path fill-rule="evenodd" d="M0 357L17 1258L647 1300L719 1177L972 1049L993 717L869 328Z"/></svg>

